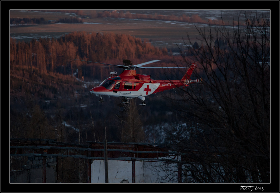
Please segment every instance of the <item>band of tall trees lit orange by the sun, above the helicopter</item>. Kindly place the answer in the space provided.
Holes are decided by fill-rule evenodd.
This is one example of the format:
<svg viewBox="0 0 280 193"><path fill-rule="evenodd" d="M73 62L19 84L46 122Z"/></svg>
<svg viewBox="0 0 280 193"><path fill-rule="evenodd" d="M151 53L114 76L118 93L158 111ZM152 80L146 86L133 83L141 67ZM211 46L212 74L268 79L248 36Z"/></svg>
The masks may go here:
<svg viewBox="0 0 280 193"><path fill-rule="evenodd" d="M73 68L79 68L82 62L71 59L115 64L127 58L137 62L144 57L162 55L168 55L166 48L159 49L147 40L142 42L140 38L124 34L73 32L58 40L40 38L16 42L10 39L10 69L14 70L16 66L31 71L37 69L41 76L47 72L73 74ZM71 72L67 72L69 69Z"/></svg>

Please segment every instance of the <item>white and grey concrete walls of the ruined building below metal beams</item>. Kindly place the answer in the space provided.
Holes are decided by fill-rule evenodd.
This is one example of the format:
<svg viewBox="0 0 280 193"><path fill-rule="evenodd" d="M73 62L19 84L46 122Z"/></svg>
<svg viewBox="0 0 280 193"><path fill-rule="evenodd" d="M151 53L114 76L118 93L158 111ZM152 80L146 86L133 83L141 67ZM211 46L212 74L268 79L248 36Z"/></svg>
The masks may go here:
<svg viewBox="0 0 280 193"><path fill-rule="evenodd" d="M29 157L23 170L10 171L10 183L42 183L43 157ZM178 183L177 164L135 162L135 183ZM91 183L105 183L104 160L93 160ZM132 183L132 161L108 160L109 183ZM46 158L46 183L56 183L56 157Z"/></svg>

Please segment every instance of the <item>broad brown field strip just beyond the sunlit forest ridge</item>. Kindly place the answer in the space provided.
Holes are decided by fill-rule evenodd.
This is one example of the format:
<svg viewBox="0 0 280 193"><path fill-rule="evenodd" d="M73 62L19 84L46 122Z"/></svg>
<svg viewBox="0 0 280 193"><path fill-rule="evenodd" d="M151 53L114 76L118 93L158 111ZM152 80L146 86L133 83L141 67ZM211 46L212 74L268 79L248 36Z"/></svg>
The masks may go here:
<svg viewBox="0 0 280 193"><path fill-rule="evenodd" d="M98 19L100 20L100 19ZM32 25L23 27L10 27L11 37L19 40L28 41L32 38L59 38L59 36L74 31L101 32L130 34L137 38L148 39L154 46L169 47L176 46L176 43L182 42L182 38L186 38L189 34L195 34L196 30L191 27L178 27L174 24L167 23L163 26L152 26L149 23L134 22L129 25L117 22L117 19L103 19L98 21L100 24L49 24L49 25ZM101 24L103 22L103 24ZM111 24L114 23L114 24Z"/></svg>

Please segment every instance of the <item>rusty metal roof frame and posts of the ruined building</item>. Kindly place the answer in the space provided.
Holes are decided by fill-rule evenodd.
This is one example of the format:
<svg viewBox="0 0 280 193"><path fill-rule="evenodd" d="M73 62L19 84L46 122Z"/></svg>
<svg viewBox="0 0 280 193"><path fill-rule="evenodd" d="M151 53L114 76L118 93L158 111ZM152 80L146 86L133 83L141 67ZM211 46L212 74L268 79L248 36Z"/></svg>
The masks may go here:
<svg viewBox="0 0 280 193"><path fill-rule="evenodd" d="M132 161L132 183L135 183L135 161L178 163L178 182L182 178L178 152L168 145L155 143L87 142L79 145L57 142L52 139L10 138L10 156L56 156L87 159L87 181L90 183L91 160ZM43 167L43 171L44 171ZM46 173L43 172L43 175ZM105 168L106 176L106 168ZM43 176L43 182L46 177ZM108 182L108 181L107 181Z"/></svg>

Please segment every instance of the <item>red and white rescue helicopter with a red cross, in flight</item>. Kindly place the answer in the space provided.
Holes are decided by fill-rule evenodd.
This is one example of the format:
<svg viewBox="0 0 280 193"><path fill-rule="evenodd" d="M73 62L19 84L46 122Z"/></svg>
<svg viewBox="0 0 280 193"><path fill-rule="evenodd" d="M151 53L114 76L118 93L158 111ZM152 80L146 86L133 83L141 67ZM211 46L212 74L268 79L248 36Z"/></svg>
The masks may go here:
<svg viewBox="0 0 280 193"><path fill-rule="evenodd" d="M74 59L78 60L78 59ZM85 61L85 60L80 60ZM125 61L125 60L124 60ZM127 60L126 60L127 61ZM123 103L129 104L129 100L133 98L139 98L142 100L140 105L145 104L145 97L157 92L162 92L165 90L173 89L181 86L188 86L192 83L200 83L200 79L191 80L190 76L193 73L194 68L196 68L196 64L193 63L190 67L145 67L143 65L154 63L161 60L152 60L136 65L132 65L128 60L128 65L114 65L114 64L106 64L99 63L105 65L112 65L117 68L124 68L122 73L117 76L117 72L111 72L111 77L106 78L99 86L96 86L90 89L90 93L95 94L96 96L100 96L99 102L103 102L103 95L108 95L109 97L122 97ZM92 62L92 61L86 61ZM125 63L125 62L124 62ZM186 74L183 76L181 80L155 80L151 78L150 75L146 74L137 74L136 68L188 68Z"/></svg>

